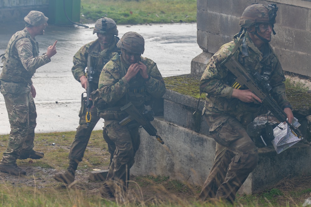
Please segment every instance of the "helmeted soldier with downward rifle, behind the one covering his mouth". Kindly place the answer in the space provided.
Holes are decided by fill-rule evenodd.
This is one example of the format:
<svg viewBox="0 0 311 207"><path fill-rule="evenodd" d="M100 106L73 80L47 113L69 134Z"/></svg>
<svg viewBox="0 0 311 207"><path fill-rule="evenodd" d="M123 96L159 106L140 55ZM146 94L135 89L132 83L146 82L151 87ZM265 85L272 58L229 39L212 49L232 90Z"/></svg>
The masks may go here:
<svg viewBox="0 0 311 207"><path fill-rule="evenodd" d="M73 56L72 74L75 79L81 82L83 88L91 87L91 91L98 88L98 80L100 72L104 65L115 54L120 53L120 49L116 46L119 41L117 25L113 19L102 17L95 22L93 34L97 34L98 39L82 46L80 50ZM88 74L85 72L87 66L88 56L91 56L92 67L95 72L93 74L93 81L90 86L87 86ZM83 99L82 99L83 100ZM69 152L69 166L65 173L58 173L54 176L55 180L65 184L71 184L75 180L75 172L79 162L82 161L87 143L90 140L91 132L100 119L97 114L97 109L92 106L90 108L91 120L89 126L86 125L86 97L81 103L81 110L79 113L80 122L77 128L75 138L72 142ZM107 140L108 150L110 153L110 160L112 161L115 150L114 143L107 139L107 135L103 132L104 139ZM111 163L110 161L110 163Z"/></svg>

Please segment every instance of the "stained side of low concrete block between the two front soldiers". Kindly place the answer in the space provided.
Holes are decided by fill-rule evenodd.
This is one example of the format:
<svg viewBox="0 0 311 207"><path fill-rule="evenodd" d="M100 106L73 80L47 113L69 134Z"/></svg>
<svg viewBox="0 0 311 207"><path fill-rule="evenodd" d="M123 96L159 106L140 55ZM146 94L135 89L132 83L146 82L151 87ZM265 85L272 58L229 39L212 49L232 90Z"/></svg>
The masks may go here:
<svg viewBox="0 0 311 207"><path fill-rule="evenodd" d="M208 136L156 118L152 124L165 142L140 129L141 145L131 168L133 175L163 175L202 185L215 157L216 142Z"/></svg>

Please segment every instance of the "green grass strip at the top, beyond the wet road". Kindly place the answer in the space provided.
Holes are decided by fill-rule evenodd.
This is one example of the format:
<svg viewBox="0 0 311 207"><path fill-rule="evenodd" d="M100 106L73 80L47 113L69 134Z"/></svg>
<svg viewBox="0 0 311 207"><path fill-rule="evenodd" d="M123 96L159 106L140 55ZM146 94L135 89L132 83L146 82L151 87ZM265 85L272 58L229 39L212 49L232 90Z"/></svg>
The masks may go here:
<svg viewBox="0 0 311 207"><path fill-rule="evenodd" d="M95 22L101 16L117 24L196 22L197 1L81 0L81 22Z"/></svg>

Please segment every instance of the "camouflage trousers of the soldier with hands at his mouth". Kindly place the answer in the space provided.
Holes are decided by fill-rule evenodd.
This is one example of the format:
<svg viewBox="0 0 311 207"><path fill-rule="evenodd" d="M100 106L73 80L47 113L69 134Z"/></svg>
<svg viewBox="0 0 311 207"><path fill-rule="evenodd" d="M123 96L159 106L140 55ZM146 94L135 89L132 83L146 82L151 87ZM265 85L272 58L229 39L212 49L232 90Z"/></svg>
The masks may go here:
<svg viewBox="0 0 311 207"><path fill-rule="evenodd" d="M125 197L128 188L130 168L135 162L134 157L140 145L140 137L138 127L129 129L118 123L118 120L105 120L104 131L115 143L116 150L103 187L122 198Z"/></svg>

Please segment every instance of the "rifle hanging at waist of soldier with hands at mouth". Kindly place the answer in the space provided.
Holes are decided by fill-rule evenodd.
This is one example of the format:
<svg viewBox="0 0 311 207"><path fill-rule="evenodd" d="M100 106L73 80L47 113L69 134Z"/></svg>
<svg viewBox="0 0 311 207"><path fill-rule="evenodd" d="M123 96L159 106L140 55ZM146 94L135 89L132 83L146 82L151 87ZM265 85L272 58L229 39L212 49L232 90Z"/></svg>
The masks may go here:
<svg viewBox="0 0 311 207"><path fill-rule="evenodd" d="M140 113L131 102L122 106L121 111L125 111L129 116L120 121L119 125L125 126L128 124L130 126L130 124L133 124L133 126L142 126L150 136L156 137L161 144L164 144L162 138L157 134L156 128L150 123L154 119L150 111L144 110L143 113Z"/></svg>

